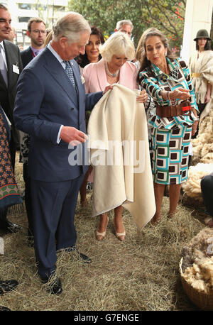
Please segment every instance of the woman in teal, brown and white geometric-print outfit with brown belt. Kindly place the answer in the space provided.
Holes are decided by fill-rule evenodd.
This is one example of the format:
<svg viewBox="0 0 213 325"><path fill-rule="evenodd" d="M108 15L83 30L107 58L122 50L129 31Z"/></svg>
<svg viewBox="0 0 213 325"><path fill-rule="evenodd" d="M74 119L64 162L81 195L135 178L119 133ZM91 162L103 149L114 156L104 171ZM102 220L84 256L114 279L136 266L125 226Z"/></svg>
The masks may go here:
<svg viewBox="0 0 213 325"><path fill-rule="evenodd" d="M183 60L173 57L165 35L151 28L141 38L138 82L156 106L148 121L152 126L155 224L161 218L165 185L170 185L171 217L176 211L181 183L187 180L190 139L197 128L197 104L190 71Z"/></svg>

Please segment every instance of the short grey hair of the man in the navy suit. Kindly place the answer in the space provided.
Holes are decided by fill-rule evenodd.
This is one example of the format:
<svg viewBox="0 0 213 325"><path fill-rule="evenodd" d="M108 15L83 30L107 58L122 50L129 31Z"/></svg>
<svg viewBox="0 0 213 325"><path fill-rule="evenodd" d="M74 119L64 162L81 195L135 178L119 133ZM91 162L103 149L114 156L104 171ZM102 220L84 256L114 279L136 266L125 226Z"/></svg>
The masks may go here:
<svg viewBox="0 0 213 325"><path fill-rule="evenodd" d="M70 11L53 25L53 40L66 37L69 43L75 43L83 32L91 33L89 23L80 13Z"/></svg>

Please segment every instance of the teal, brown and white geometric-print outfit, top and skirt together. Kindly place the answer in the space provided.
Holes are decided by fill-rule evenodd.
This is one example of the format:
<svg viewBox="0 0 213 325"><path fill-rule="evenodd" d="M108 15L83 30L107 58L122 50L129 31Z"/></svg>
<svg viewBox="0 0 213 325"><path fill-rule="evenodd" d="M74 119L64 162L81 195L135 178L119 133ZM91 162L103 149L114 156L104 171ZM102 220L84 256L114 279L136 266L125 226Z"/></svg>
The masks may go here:
<svg viewBox="0 0 213 325"><path fill-rule="evenodd" d="M173 91L178 87L189 89L191 106L198 111L189 68L180 58L166 57L166 60L170 75L152 64L140 73L141 86L153 98L155 105L160 106L180 104L182 101L165 100L162 91ZM153 111L149 116L148 123L152 127L152 169L155 183L180 184L187 180L192 124L196 120L192 111L186 115L170 118L160 118Z"/></svg>

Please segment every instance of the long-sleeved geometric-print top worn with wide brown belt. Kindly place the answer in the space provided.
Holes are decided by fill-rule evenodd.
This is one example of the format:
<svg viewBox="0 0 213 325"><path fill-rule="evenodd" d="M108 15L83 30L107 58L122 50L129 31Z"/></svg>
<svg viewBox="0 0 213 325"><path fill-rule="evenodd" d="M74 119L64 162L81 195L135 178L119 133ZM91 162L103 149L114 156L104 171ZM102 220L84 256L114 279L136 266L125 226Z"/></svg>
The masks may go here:
<svg viewBox="0 0 213 325"><path fill-rule="evenodd" d="M166 75L156 65L152 64L151 67L146 68L140 73L141 86L153 98L155 105L160 106L180 104L182 101L177 99L175 103L172 103L169 100L164 100L161 94L163 90L172 91L178 87L190 89L191 106L198 111L189 68L180 58L169 59L166 57L166 60L170 69L170 75ZM190 111L187 115L174 116L173 118L160 118L160 116L154 114L150 117L148 123L154 128L170 130L176 127L183 127L185 124L192 126L192 123L196 120L197 118Z"/></svg>

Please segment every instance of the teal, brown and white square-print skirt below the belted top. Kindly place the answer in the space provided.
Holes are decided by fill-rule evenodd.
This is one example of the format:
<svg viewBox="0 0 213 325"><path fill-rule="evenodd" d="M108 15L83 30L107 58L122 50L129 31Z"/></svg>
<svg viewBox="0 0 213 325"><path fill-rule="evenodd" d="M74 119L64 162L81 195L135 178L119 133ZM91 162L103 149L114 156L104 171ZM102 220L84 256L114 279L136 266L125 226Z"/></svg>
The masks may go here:
<svg viewBox="0 0 213 325"><path fill-rule="evenodd" d="M158 184L180 184L187 180L192 126L174 130L153 128L153 180Z"/></svg>

